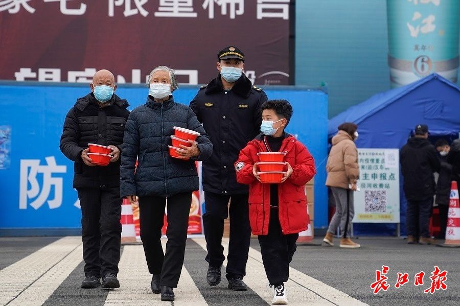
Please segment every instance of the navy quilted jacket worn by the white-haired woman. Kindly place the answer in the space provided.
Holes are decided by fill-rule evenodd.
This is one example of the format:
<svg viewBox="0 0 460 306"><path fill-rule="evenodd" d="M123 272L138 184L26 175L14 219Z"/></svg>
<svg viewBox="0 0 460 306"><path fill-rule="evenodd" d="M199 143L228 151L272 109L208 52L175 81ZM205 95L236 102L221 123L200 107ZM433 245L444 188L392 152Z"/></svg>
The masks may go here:
<svg viewBox="0 0 460 306"><path fill-rule="evenodd" d="M180 160L169 155L174 126L201 134L196 141L200 155L194 160ZM163 103L148 96L147 103L129 115L123 139L120 168L120 194L168 197L199 189L195 160L211 156L213 145L195 113L171 97ZM139 164L134 174L134 164Z"/></svg>

